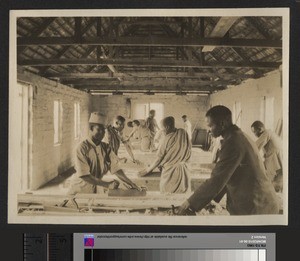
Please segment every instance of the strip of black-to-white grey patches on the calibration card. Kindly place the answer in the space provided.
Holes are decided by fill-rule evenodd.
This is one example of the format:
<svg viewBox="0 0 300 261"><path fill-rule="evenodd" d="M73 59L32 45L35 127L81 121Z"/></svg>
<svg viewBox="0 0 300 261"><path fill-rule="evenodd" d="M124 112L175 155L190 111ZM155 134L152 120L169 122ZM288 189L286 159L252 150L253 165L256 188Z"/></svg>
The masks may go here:
<svg viewBox="0 0 300 261"><path fill-rule="evenodd" d="M85 261L266 261L265 249L85 249Z"/></svg>

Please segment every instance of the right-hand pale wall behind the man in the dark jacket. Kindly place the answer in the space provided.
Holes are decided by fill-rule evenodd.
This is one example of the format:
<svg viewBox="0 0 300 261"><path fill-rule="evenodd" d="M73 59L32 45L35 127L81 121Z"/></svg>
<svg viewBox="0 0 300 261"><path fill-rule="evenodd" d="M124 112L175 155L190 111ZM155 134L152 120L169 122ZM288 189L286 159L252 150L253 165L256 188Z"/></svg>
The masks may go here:
<svg viewBox="0 0 300 261"><path fill-rule="evenodd" d="M260 120L262 97L274 97L274 127L276 127L278 120L283 115L282 90L280 72L274 71L265 77L247 80L239 86L233 86L212 94L210 104L212 106L222 104L232 110L234 102L241 102L242 118L240 127L250 137L256 139L251 132L251 124L255 120Z"/></svg>

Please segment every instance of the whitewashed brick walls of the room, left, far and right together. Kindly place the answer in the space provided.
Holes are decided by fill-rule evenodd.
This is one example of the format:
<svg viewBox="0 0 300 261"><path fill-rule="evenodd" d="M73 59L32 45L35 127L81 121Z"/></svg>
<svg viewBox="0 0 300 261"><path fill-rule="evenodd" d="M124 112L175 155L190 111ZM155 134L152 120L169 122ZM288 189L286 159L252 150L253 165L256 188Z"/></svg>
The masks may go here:
<svg viewBox="0 0 300 261"><path fill-rule="evenodd" d="M261 79L248 80L240 86L210 96L134 94L90 96L85 92L27 72L18 72L18 80L31 83L34 89L31 189L39 188L74 165L74 150L80 141L80 138L77 140L74 138L74 102L80 102L81 137L88 133L90 111L104 113L107 116L107 123L119 114L125 116L126 120L133 120L134 105L146 102L163 103L164 116L173 116L177 127L183 126L181 116L186 114L193 126L197 123L197 128L206 128L204 120L209 106L223 104L232 109L233 103L240 101L243 111L241 127L246 133L252 135L250 125L260 115L262 96L275 98L275 124L282 117L282 88L278 71ZM54 145L53 142L53 101L55 99L61 100L63 106L62 143L60 145Z"/></svg>

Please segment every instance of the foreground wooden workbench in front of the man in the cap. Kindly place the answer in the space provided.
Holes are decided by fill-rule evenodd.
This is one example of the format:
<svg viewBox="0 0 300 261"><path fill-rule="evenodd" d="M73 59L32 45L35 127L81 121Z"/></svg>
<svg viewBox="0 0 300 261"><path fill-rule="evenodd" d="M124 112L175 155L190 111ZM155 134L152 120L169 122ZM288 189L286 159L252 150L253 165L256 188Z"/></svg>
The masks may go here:
<svg viewBox="0 0 300 261"><path fill-rule="evenodd" d="M172 215L172 206L180 206L190 194L191 192L166 195L153 191L142 197L111 197L107 193L75 196L19 194L18 209L20 215ZM62 206L66 200L68 204ZM75 200L76 204L72 204L72 200ZM226 211L224 213L226 214Z"/></svg>

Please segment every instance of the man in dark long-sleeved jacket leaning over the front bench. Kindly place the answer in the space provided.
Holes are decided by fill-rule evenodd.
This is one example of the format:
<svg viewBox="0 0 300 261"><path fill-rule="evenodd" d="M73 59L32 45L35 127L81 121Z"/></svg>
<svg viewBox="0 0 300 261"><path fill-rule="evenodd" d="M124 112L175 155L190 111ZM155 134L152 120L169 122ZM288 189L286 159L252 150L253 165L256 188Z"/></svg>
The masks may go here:
<svg viewBox="0 0 300 261"><path fill-rule="evenodd" d="M177 214L193 215L225 194L230 215L278 214L277 195L258 148L232 124L231 111L215 106L206 113L206 120L212 136L223 137L218 161L211 177L178 208Z"/></svg>

